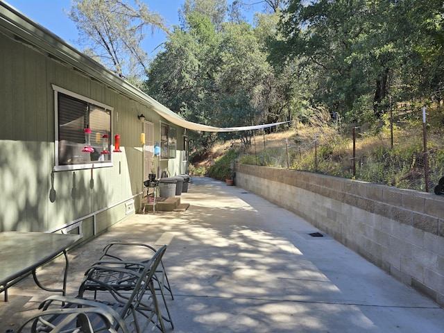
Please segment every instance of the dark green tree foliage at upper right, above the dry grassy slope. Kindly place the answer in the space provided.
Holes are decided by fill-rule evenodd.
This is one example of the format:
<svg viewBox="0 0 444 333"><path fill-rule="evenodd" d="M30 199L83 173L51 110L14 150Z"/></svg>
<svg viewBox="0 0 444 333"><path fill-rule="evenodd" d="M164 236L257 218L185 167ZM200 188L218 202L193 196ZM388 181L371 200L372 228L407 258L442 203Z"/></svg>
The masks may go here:
<svg viewBox="0 0 444 333"><path fill-rule="evenodd" d="M442 13L438 0L291 0L271 58L305 76L302 99L311 105L379 119L390 101L442 96Z"/></svg>

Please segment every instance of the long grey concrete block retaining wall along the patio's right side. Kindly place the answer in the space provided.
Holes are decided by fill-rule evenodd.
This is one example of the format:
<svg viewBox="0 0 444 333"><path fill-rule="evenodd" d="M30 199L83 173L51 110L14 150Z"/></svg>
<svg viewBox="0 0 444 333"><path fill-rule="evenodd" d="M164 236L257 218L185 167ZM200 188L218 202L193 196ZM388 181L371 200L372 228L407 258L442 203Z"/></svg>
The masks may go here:
<svg viewBox="0 0 444 333"><path fill-rule="evenodd" d="M298 214L444 306L444 196L236 164L236 185Z"/></svg>

